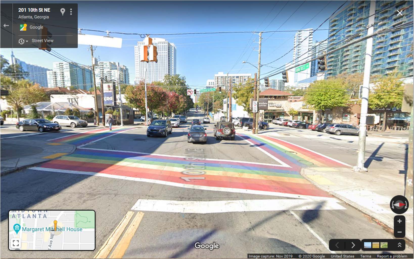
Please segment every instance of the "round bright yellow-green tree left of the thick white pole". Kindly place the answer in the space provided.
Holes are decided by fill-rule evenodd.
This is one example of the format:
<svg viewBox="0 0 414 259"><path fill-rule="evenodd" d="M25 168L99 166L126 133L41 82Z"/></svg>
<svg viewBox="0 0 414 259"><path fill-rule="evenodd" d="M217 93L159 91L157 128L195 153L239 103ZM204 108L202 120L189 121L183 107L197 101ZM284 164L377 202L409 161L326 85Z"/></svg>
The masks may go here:
<svg viewBox="0 0 414 259"><path fill-rule="evenodd" d="M345 107L349 100L347 85L339 78L328 78L318 80L310 84L304 96L306 104L314 110L333 109L334 107ZM323 113L322 113L323 121Z"/></svg>

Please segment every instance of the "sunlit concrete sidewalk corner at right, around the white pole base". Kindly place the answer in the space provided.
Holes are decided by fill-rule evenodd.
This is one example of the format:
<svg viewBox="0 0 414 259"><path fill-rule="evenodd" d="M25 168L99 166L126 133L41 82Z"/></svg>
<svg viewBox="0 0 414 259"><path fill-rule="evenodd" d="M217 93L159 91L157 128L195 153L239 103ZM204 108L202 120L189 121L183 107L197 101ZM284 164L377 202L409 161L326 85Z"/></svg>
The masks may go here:
<svg viewBox="0 0 414 259"><path fill-rule="evenodd" d="M326 192L383 223L390 231L394 216L390 201L395 195L404 195L404 172L394 169L356 173L352 168L303 168L301 175ZM413 205L403 214L406 218L405 237L413 241ZM379 222L378 222L379 221Z"/></svg>

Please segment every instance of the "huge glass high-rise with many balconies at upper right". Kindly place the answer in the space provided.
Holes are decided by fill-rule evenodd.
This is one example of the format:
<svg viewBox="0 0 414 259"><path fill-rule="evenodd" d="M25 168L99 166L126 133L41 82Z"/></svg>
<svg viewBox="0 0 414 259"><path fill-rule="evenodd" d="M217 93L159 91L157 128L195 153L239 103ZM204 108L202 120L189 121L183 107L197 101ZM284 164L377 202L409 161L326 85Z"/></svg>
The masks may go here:
<svg viewBox="0 0 414 259"><path fill-rule="evenodd" d="M370 2L352 1L331 17L328 51L366 36ZM413 57L409 56L412 54L413 26L399 28L401 24L412 20L412 1L375 1L374 32L394 30L373 37L371 74L386 74L396 69L403 77L413 76ZM341 73L362 73L365 51L366 40L328 55L327 77Z"/></svg>

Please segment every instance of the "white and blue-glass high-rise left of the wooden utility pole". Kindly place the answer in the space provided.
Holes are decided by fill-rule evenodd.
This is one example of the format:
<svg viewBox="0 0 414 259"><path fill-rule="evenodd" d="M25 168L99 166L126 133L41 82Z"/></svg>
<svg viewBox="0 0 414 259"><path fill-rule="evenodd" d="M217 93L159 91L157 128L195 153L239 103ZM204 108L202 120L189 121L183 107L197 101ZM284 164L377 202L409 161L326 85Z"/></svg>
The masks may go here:
<svg viewBox="0 0 414 259"><path fill-rule="evenodd" d="M94 85L92 71L72 62L53 62L47 72L48 87L70 87L89 90Z"/></svg>

